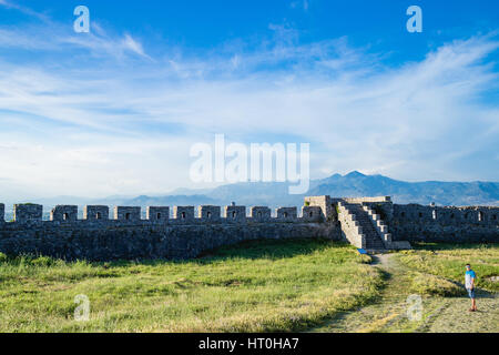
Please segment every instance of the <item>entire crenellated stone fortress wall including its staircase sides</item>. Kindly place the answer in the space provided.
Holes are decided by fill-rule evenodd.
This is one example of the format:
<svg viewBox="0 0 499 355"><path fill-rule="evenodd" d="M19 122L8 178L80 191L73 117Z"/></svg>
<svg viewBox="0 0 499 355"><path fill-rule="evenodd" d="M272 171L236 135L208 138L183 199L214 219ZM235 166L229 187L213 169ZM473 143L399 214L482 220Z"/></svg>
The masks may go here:
<svg viewBox="0 0 499 355"><path fill-rule="evenodd" d="M499 207L399 205L388 196L310 196L305 197L299 215L296 207L277 209L272 216L266 206L251 207L249 215L245 206L236 205L174 206L172 211L150 206L145 220L141 207L115 206L110 219L109 206L84 206L80 220L78 206L58 205L50 221L42 221L43 206L18 204L14 220L6 222L0 204L0 252L90 261L191 258L242 241L296 237L349 241L363 247L369 235L363 234L360 216L349 214L344 205L367 211L386 248L404 241L499 242ZM364 230L367 233L366 225Z"/></svg>

